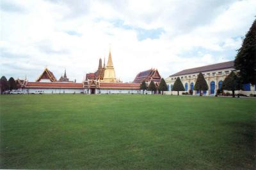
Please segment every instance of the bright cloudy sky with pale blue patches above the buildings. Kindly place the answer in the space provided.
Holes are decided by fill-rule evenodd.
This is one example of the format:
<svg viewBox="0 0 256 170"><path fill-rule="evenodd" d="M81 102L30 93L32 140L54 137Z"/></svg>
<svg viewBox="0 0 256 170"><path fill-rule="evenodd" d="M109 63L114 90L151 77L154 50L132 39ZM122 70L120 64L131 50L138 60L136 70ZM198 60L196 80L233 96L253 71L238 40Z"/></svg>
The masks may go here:
<svg viewBox="0 0 256 170"><path fill-rule="evenodd" d="M255 0L0 2L1 75L29 81L47 66L81 82L107 62L109 45L123 81L234 60L256 15Z"/></svg>

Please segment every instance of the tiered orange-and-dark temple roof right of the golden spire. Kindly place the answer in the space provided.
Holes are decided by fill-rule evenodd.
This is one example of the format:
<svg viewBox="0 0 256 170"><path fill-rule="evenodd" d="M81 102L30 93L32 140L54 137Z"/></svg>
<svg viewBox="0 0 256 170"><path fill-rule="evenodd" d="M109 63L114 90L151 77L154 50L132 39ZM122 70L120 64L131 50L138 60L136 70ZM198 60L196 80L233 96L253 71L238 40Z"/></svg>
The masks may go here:
<svg viewBox="0 0 256 170"><path fill-rule="evenodd" d="M146 71L141 71L137 74L136 78L134 78L133 83L141 83L143 80L148 81L161 81L161 76L158 73L157 69L148 69Z"/></svg>

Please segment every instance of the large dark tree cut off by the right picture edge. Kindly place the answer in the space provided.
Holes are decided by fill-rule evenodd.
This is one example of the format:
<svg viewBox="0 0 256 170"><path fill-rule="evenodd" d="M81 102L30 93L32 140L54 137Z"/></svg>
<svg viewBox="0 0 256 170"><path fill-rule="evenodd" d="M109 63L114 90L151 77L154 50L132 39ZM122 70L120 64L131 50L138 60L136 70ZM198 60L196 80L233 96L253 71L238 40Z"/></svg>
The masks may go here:
<svg viewBox="0 0 256 170"><path fill-rule="evenodd" d="M238 76L243 83L256 84L256 20L246 33L241 48L237 50L234 66L239 70Z"/></svg>

